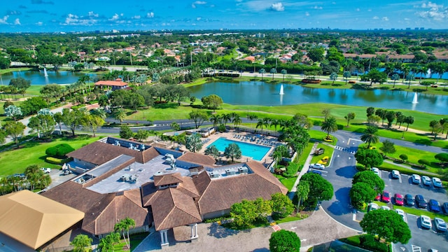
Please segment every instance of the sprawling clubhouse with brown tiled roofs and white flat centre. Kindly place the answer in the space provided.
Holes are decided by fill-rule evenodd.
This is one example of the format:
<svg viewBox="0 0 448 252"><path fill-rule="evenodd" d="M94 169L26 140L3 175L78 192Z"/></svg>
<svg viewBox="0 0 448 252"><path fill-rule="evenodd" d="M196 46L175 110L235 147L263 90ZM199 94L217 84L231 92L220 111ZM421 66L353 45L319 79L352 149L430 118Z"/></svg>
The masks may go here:
<svg viewBox="0 0 448 252"><path fill-rule="evenodd" d="M97 237L130 217L135 232L153 226L162 246L172 228L188 226L197 239L197 223L229 214L232 204L288 192L260 162L216 166L208 155L113 137L68 156L85 172L42 195L85 213L82 230Z"/></svg>

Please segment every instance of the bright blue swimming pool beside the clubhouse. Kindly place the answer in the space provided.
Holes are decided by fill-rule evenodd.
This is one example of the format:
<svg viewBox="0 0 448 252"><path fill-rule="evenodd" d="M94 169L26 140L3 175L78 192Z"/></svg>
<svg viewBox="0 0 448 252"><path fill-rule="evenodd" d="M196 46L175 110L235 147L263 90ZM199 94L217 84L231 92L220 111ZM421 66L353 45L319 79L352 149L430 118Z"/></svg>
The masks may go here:
<svg viewBox="0 0 448 252"><path fill-rule="evenodd" d="M246 157L251 157L253 160L261 161L262 158L269 152L271 149L267 146L260 146L258 144L248 144L241 141L233 141L229 140L225 137L220 137L216 139L213 143L210 144L210 146L214 145L216 148L218 148L218 151L224 152L225 147L227 147L229 144L237 144L239 148L241 149L241 155L244 155Z"/></svg>

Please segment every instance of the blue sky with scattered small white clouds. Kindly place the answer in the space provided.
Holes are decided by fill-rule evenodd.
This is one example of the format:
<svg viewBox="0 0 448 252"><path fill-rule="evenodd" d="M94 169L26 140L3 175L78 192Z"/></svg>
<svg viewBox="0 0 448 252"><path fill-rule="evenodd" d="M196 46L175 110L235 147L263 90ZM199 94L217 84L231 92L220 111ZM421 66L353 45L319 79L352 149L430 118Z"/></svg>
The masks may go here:
<svg viewBox="0 0 448 252"><path fill-rule="evenodd" d="M448 0L1 0L0 32L448 29Z"/></svg>

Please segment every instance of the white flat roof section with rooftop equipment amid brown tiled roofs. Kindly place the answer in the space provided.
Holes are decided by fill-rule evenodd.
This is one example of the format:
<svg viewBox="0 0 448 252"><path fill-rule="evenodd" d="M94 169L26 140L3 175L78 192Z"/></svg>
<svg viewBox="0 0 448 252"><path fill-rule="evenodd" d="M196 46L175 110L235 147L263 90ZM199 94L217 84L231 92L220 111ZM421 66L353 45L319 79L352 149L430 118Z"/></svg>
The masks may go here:
<svg viewBox="0 0 448 252"><path fill-rule="evenodd" d="M120 155L120 157L129 157L127 155ZM111 160L110 162L113 162L115 165L114 167L117 167L120 164L123 164L125 159L120 159L120 157ZM132 158L132 157L131 157ZM115 162L116 161L116 162ZM106 179L103 179L102 181L99 181L98 183L95 183L94 185L88 187L87 189L92 190L97 193L116 193L120 191L125 190L132 190L136 188L140 188L141 185L148 182L153 182L153 176L154 174L162 175L162 174L172 174L174 172L179 172L182 176L188 176L190 174L189 169L176 167L176 169L172 169L172 167L169 165L169 163L165 162L166 158L165 155L158 155L157 157L153 158L149 162L146 162L145 164L141 164L139 162L134 162L129 167L125 167L124 169L121 169L120 171L116 172L115 174L112 174ZM103 167L103 166L108 166ZM96 170L99 169L98 172ZM109 162L107 162L104 165L101 165L95 169L92 169L92 171L88 172L88 174L96 174L94 176L99 176L99 174L102 174L101 172L107 172L109 169L113 169L113 167L109 167ZM135 179L137 177L137 181L132 181L132 179ZM123 181L122 178L125 178Z"/></svg>

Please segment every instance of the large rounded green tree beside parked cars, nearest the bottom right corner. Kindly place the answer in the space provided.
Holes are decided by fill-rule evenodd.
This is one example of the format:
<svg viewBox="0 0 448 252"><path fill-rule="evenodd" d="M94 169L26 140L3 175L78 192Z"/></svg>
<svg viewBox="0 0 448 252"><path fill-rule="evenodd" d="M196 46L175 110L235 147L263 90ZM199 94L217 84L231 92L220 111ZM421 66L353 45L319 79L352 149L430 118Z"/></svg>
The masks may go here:
<svg viewBox="0 0 448 252"><path fill-rule="evenodd" d="M411 230L402 217L395 211L378 209L364 215L360 226L370 235L378 235L388 242L407 244L411 239Z"/></svg>

